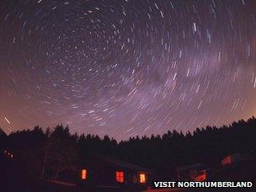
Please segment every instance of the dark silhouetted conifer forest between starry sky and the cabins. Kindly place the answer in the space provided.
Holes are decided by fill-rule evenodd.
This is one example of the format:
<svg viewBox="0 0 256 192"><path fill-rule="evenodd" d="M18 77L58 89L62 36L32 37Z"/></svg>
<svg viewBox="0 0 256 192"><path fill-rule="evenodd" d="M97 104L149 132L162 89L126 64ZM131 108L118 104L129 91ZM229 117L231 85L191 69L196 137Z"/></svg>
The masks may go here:
<svg viewBox="0 0 256 192"><path fill-rule="evenodd" d="M214 166L229 154L250 152L255 149L255 138L254 117L218 128L206 126L186 133L173 130L162 136L136 136L120 142L109 136L78 136L71 134L68 126L56 125L45 131L35 126L33 130L9 135L0 129L0 150L12 152L14 169L31 177L74 178L75 170L93 152L150 168L164 178L174 177L179 166L192 163Z"/></svg>

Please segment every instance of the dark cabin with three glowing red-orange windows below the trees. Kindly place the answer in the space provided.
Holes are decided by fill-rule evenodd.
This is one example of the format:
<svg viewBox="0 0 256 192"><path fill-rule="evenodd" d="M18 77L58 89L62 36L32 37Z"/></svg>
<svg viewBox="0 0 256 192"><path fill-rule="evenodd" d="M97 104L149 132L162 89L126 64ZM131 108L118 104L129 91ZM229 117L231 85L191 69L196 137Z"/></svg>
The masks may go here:
<svg viewBox="0 0 256 192"><path fill-rule="evenodd" d="M93 154L79 170L78 184L83 187L147 189L152 171L114 158Z"/></svg>

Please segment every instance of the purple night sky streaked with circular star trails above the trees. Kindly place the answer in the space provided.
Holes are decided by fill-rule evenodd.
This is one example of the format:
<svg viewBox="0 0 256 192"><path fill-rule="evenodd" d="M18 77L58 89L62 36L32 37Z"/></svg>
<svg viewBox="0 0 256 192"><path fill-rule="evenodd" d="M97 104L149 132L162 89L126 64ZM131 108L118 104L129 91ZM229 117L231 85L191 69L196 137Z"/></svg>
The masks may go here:
<svg viewBox="0 0 256 192"><path fill-rule="evenodd" d="M116 139L256 115L254 0L1 0L0 126Z"/></svg>

